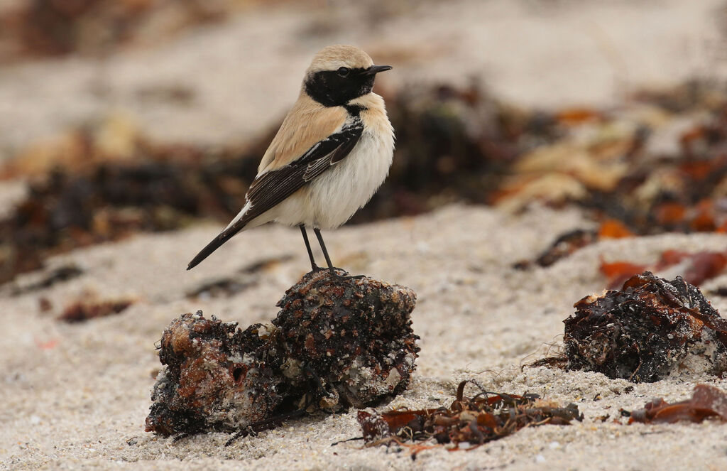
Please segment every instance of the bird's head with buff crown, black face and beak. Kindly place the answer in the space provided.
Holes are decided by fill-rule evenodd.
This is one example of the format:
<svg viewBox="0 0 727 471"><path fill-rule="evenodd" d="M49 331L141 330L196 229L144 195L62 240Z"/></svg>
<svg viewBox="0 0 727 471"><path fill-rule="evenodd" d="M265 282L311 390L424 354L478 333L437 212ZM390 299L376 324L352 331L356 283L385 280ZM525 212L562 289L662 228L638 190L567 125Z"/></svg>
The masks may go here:
<svg viewBox="0 0 727 471"><path fill-rule="evenodd" d="M310 98L324 106L344 106L370 93L376 74L390 68L374 66L369 55L358 47L328 46L310 63L303 88Z"/></svg>

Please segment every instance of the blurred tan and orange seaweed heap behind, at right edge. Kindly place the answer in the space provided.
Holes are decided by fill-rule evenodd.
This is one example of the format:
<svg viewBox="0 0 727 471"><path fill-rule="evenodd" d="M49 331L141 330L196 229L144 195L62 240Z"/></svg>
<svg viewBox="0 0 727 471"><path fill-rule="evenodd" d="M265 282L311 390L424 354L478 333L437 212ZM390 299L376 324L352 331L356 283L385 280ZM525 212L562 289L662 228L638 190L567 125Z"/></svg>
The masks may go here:
<svg viewBox="0 0 727 471"><path fill-rule="evenodd" d="M507 207L575 202L593 210L596 221L618 222L618 228L602 226L603 235L616 237L727 231L727 94L709 82L689 82L659 94L644 92L638 100L646 116L660 116L661 124L645 116L614 133L614 125L628 122L621 113L577 112L589 116L582 120L556 113L553 119L566 130L564 138L519 155L496 202ZM680 106L673 106L676 102ZM704 119L691 129L665 129L664 116L675 122L694 111ZM569 127L603 132L574 139ZM654 153L648 144L655 135L670 140L674 150Z"/></svg>

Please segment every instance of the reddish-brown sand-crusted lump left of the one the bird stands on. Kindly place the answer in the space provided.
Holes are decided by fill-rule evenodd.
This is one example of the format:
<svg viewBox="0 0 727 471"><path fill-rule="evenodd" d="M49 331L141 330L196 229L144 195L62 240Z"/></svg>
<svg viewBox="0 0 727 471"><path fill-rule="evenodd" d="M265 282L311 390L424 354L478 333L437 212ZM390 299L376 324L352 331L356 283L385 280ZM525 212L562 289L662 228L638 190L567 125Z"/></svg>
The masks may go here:
<svg viewBox="0 0 727 471"><path fill-rule="evenodd" d="M256 354L258 328L182 314L161 336L162 368L146 430L161 435L239 430L265 419L282 400L278 379Z"/></svg>

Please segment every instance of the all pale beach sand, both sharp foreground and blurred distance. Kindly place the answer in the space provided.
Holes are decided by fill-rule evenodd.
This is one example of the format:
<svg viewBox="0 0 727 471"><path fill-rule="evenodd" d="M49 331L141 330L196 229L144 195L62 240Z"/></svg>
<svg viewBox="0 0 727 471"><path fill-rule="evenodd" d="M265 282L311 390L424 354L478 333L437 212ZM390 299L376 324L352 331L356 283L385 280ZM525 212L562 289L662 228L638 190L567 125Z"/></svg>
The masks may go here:
<svg viewBox="0 0 727 471"><path fill-rule="evenodd" d="M0 0L0 14L14 3L20 1ZM585 118L596 124L569 128L573 132L564 146L555 145L545 159L530 162L533 175L550 172L550 182L575 182L574 193L585 193L583 175L598 180L613 162L619 168L634 164L630 157L622 159L623 149L643 123L653 128L643 152L654 162L688 154L679 139L693 128L709 134L724 125L696 126L712 116L707 108L716 102L708 99L695 100L698 109L687 106L683 114L658 108L658 99L629 108L635 90L656 90L695 76L715 83L727 77L721 0L375 1L365 6L334 1L326 9L273 3L261 7L251 2L254 7L230 13L225 21L181 28L163 41L140 34L138 44L126 44L103 60L79 53L3 63L0 160L57 157L45 149L63 154L69 132L110 117L118 118L119 127L113 129L121 134L119 141L112 136L112 144L141 135L172 149L235 148L279 122L311 55L339 42L358 44L377 63L395 66L377 82L376 90L387 99L422 84L465 87L476 82L483 95L513 109L575 107L587 115L598 108ZM351 17L361 20L346 23ZM156 27L151 25L147 32ZM271 36L270 30L277 34ZM3 46L0 41L0 53ZM483 108L490 106L483 101ZM462 107L443 113L451 109ZM616 111L623 112L620 121L609 122L608 115ZM694 144L698 151L708 147L699 138ZM615 148L604 152L606 157L598 154L598 149ZM592 149L597 149L595 157L588 154ZM577 159L568 159L576 154ZM671 170L660 174L663 181L657 175L653 185L644 185L643 194L653 196L660 184L673 183ZM533 175L510 183L525 188ZM618 176L624 175L632 176L625 171ZM720 217L725 214L718 204L727 194L724 182L710 194ZM25 197L25 183L23 175L0 182L1 215L11 215ZM643 408L654 397L686 400L696 384L727 390L727 379L685 366L662 381L632 384L601 373L529 366L559 352L563 320L574 312L574 303L603 292L608 280L599 271L601 261L653 266L664 250L724 252L727 234L717 231L717 224L700 233L601 238L551 266L516 269L515 264L533 260L562 234L599 227L585 205L561 204L567 191L557 185L526 190L533 193L523 191L526 195L518 199L513 191L515 202L499 208L437 204L431 213L344 226L326 233L326 243L335 265L417 293L412 314L421 348L417 370L406 392L378 405L378 411L449 406L457 384L471 380L492 392L529 392L560 405L575 403L583 421L528 427L468 451L437 446L420 451L416 459L407 448L365 447L361 440L334 446L362 435L353 409L286 421L228 447L230 435L220 432L178 441L145 432L150 392L161 368L155 344L169 322L198 310L206 317L239 322L241 328L268 322L278 312L278 299L309 267L300 231L269 225L233 238L187 272L190 258L222 227L209 219L199 222L214 215L196 215L198 223L180 224L182 229L137 232L52 256L44 269L0 286L0 468L727 469L723 422L628 425L619 412ZM558 204L545 204L552 194ZM446 192L437 198L455 199ZM322 260L320 250L316 256ZM55 269L69 266L79 269L80 276L38 286ZM656 274L672 279L681 269L676 265ZM242 280L236 293L190 296L223 277ZM715 290L726 286L725 272L700 286L723 315L727 298ZM69 306L89 299L132 304L119 314L85 322L58 320ZM470 385L465 393L477 391Z"/></svg>

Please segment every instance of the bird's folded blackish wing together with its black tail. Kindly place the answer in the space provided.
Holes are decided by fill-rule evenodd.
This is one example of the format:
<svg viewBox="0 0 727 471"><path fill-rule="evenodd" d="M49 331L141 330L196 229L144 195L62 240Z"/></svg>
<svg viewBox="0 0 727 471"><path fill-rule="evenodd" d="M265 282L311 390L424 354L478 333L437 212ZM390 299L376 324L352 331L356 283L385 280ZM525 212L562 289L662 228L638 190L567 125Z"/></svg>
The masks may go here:
<svg viewBox="0 0 727 471"><path fill-rule="evenodd" d="M344 159L356 146L362 132L364 132L364 124L356 116L337 132L313 144L298 159L283 167L278 167L276 170L268 170L257 175L245 195L247 209L241 212L233 223L230 223L212 242L209 242L190 261L187 269L193 268L207 258L220 245L230 240L230 237L241 231L249 221L278 205L306 183Z"/></svg>

